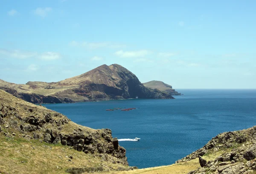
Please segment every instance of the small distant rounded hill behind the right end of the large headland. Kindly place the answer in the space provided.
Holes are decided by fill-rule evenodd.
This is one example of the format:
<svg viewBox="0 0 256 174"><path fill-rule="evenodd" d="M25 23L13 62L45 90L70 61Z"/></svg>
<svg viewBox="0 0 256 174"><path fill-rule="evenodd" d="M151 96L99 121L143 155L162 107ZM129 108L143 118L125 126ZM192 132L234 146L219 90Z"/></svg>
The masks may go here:
<svg viewBox="0 0 256 174"><path fill-rule="evenodd" d="M151 89L157 89L160 90L163 93L167 93L172 96L179 96L181 93L178 93L175 91L175 89L172 89L172 86L169 84L163 83L163 81L148 81L146 83L143 83L145 87L151 88Z"/></svg>

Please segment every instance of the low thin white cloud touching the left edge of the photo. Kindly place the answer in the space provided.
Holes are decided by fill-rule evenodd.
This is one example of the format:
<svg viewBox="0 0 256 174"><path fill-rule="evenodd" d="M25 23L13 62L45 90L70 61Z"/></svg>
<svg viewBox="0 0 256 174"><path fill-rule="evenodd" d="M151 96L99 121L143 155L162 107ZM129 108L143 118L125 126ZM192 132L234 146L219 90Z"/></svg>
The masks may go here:
<svg viewBox="0 0 256 174"><path fill-rule="evenodd" d="M28 51L20 51L18 49L15 50L7 50L7 49L0 49L0 54L6 55L12 58L31 58L37 55L37 52L28 52Z"/></svg>

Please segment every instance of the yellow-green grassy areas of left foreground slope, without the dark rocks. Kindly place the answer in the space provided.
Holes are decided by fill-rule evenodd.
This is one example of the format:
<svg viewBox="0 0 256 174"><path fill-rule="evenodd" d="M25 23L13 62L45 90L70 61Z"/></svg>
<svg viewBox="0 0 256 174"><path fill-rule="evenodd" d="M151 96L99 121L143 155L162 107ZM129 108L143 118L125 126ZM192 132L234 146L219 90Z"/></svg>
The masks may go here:
<svg viewBox="0 0 256 174"><path fill-rule="evenodd" d="M25 118L32 113L29 113L28 109L32 108L33 114L38 118L44 117L44 113L55 113L55 120L65 119L66 116L49 110L45 107L25 102L21 99L17 99L9 93L0 90L0 104L8 105L15 108L15 114L17 113L21 118ZM67 168L89 168L102 166L104 170L113 171L121 168L127 170L127 165L119 163L113 163L116 161L115 157L109 154L85 154L79 152L70 146L64 146L59 144L49 144L41 142L35 139L25 139L24 134L17 131L16 128L9 125L9 116L4 118L6 123L0 125L0 173L7 172L9 174L47 174L66 173ZM12 117L12 120L15 119ZM17 120L19 121L19 120ZM47 128L54 129L54 125L48 124ZM74 122L69 121L67 124L62 125L62 133L72 134L74 129L80 128L85 135L96 132L92 128L77 125ZM98 130L102 131L102 130ZM13 134L14 133L14 134ZM41 133L40 131L33 131L33 133ZM27 135L33 136L33 133L27 132ZM5 136L5 135L8 136ZM99 139L104 141L104 139ZM72 156L73 159L69 157ZM71 161L70 161L71 160Z"/></svg>

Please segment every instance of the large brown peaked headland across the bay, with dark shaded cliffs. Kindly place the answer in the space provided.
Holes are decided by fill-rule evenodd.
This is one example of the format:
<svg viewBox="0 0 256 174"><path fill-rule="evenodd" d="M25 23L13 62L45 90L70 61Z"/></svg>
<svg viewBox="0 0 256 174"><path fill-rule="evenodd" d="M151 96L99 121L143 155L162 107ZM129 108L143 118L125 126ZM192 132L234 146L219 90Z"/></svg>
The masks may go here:
<svg viewBox="0 0 256 174"><path fill-rule="evenodd" d="M87 73L58 82L29 81L13 84L0 80L0 89L28 102L62 103L109 99L174 99L170 93L145 87L118 64L102 65Z"/></svg>

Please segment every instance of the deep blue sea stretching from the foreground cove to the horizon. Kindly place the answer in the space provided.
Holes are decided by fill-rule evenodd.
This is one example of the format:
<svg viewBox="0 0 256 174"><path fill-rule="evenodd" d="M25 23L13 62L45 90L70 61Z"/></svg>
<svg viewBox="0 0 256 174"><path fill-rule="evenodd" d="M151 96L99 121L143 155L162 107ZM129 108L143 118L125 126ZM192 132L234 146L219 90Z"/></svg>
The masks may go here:
<svg viewBox="0 0 256 174"><path fill-rule="evenodd" d="M256 90L177 90L176 99L128 99L44 104L73 122L110 128L126 149L129 165L169 165L204 146L212 137L256 125ZM131 111L106 111L137 107Z"/></svg>

